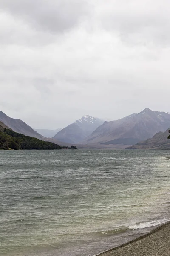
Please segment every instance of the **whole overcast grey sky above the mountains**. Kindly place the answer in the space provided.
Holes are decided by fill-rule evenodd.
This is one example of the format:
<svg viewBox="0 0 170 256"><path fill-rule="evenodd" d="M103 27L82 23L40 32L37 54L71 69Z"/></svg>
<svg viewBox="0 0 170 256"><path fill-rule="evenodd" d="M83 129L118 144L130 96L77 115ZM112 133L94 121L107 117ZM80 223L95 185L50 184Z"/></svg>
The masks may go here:
<svg viewBox="0 0 170 256"><path fill-rule="evenodd" d="M169 0L0 0L0 110L33 128L170 112Z"/></svg>

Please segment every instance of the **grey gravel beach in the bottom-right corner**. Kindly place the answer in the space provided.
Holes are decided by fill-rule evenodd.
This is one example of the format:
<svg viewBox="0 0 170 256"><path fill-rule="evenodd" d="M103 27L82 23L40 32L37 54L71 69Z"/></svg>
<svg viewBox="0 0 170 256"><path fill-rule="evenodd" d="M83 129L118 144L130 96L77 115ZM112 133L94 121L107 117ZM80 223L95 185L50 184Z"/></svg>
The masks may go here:
<svg viewBox="0 0 170 256"><path fill-rule="evenodd" d="M149 233L125 244L113 247L96 256L169 256L170 221L161 224Z"/></svg>

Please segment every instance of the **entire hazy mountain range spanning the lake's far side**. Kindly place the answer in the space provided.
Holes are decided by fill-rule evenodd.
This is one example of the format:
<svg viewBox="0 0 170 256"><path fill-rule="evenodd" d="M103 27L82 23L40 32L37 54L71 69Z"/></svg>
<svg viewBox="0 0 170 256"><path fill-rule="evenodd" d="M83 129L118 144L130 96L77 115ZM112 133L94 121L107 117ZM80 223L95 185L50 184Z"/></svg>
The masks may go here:
<svg viewBox="0 0 170 256"><path fill-rule="evenodd" d="M103 122L99 118L85 115L60 131L45 129L34 131L22 120L13 119L2 111L0 111L0 121L17 133L51 141L59 145L115 149L123 149L134 145L131 147L132 149L147 149L159 148L160 144L166 143L165 148L170 148L170 141L167 140L167 131L170 128L170 113L152 111L149 108L109 122ZM161 148L164 148L164 145Z"/></svg>

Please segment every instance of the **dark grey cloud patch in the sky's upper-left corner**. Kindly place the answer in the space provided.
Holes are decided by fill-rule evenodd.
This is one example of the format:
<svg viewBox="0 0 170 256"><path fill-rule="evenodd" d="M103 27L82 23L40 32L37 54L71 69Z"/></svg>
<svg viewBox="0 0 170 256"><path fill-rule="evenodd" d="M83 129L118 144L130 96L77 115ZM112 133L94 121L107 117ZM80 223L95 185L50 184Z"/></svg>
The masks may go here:
<svg viewBox="0 0 170 256"><path fill-rule="evenodd" d="M0 0L0 8L35 29L54 33L73 28L90 12L85 0Z"/></svg>

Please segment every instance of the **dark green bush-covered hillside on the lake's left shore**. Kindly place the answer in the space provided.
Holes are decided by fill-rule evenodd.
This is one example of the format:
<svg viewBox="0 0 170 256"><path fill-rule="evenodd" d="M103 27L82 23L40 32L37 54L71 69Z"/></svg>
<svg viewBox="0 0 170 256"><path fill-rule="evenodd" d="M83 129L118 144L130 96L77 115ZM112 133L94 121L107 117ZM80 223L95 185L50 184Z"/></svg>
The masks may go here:
<svg viewBox="0 0 170 256"><path fill-rule="evenodd" d="M23 134L19 134L10 129L0 129L0 149L61 149L52 142L39 140Z"/></svg>

